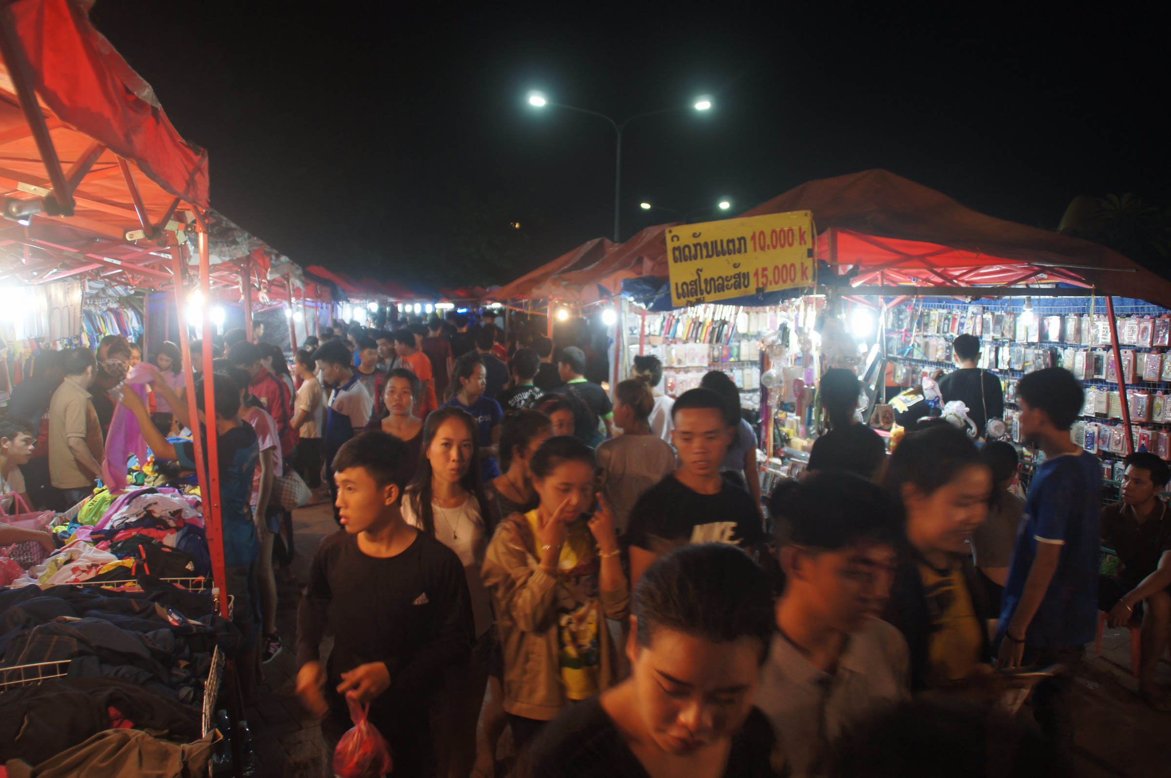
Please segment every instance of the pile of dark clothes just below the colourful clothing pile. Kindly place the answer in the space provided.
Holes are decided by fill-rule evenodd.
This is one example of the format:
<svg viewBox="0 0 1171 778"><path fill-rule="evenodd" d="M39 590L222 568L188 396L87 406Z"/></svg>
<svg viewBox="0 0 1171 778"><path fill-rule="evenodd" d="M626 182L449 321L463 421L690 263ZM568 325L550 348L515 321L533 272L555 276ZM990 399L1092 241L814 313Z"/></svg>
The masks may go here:
<svg viewBox="0 0 1171 778"><path fill-rule="evenodd" d="M144 581L145 592L93 586L0 588L0 680L12 668L68 662L71 679L119 679L199 705L217 646L234 656L240 633L213 612L211 592Z"/></svg>

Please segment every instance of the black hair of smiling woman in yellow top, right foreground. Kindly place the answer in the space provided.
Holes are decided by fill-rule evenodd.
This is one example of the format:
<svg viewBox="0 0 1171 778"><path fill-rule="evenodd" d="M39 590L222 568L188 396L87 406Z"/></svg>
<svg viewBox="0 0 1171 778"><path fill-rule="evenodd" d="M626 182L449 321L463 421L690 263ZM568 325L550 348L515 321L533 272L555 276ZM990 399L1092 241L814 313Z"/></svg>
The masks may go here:
<svg viewBox="0 0 1171 778"><path fill-rule="evenodd" d="M890 455L886 491L902 505L905 484L931 495L972 466L987 467L964 431L947 424L908 433Z"/></svg>

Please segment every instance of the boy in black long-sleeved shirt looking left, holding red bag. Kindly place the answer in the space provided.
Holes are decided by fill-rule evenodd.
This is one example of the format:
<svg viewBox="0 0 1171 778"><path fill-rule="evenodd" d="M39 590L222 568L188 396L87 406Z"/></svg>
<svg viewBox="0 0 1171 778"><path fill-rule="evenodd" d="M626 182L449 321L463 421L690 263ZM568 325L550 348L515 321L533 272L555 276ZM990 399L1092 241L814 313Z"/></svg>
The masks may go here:
<svg viewBox="0 0 1171 778"><path fill-rule="evenodd" d="M429 702L467 656L472 606L459 557L403 519L405 443L365 432L334 457L342 530L321 542L297 610L296 691L333 749L351 727L344 694L370 703L396 776L432 774ZM335 635L326 667L327 627Z"/></svg>

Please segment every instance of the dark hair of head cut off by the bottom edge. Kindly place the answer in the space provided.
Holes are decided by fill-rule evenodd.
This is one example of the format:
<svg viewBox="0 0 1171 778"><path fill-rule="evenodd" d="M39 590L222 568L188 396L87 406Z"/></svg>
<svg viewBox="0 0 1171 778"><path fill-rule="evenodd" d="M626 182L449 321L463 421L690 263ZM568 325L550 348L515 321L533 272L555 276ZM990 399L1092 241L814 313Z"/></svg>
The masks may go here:
<svg viewBox="0 0 1171 778"><path fill-rule="evenodd" d="M1020 716L964 700L915 696L860 720L827 751L829 778L1057 778L1069 758Z"/></svg>

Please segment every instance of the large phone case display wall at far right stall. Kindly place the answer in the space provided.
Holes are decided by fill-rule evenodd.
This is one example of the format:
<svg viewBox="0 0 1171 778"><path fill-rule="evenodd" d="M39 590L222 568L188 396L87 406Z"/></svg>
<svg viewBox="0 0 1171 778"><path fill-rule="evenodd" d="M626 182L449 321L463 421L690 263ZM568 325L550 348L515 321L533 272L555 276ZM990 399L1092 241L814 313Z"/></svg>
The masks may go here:
<svg viewBox="0 0 1171 778"><path fill-rule="evenodd" d="M1114 311L1132 450L1145 448L1169 459L1171 311L1132 298L1115 298ZM1020 438L1016 383L1035 370L1064 367L1086 387L1086 407L1070 435L1102 457L1103 480L1118 487L1127 453L1123 398L1103 298L1012 297L966 303L920 297L899 303L886 314L886 353L895 363L895 379L911 386L924 373L954 370L952 342L964 333L980 338L978 366L995 374L1004 387L1005 422L1008 439L1021 454L1022 475L1032 471L1035 454ZM1108 491L1116 494L1116 489Z"/></svg>

